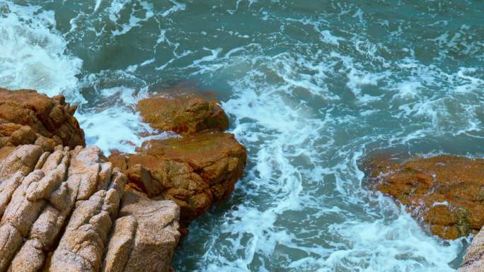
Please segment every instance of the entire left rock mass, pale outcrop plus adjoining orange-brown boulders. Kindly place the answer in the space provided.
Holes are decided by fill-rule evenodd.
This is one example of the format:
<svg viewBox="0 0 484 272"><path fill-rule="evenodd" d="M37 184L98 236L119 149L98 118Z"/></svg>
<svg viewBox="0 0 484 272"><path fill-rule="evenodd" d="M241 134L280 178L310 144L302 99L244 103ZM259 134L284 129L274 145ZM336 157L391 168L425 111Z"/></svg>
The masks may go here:
<svg viewBox="0 0 484 272"><path fill-rule="evenodd" d="M0 272L173 271L180 231L229 196L247 154L217 102L165 102L176 107L149 114L183 138L110 162L83 147L64 97L0 89Z"/></svg>

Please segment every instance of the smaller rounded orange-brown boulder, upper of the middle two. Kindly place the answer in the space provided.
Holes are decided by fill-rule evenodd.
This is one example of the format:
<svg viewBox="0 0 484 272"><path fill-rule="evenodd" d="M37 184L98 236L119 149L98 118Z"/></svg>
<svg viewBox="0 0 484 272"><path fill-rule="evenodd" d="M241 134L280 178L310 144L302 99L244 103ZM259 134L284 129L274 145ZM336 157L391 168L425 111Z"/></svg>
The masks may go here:
<svg viewBox="0 0 484 272"><path fill-rule="evenodd" d="M195 134L229 129L229 118L217 105L217 100L207 100L193 93L149 97L139 101L137 109L144 122L162 131Z"/></svg>

